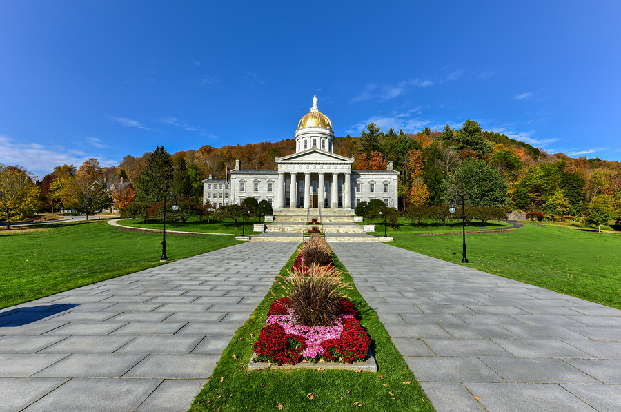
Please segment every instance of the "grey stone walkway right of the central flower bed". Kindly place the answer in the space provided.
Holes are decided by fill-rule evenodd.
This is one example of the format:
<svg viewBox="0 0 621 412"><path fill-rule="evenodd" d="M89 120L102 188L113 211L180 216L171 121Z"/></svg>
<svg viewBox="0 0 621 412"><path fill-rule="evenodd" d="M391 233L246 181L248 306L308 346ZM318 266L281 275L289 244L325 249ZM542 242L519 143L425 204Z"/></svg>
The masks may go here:
<svg viewBox="0 0 621 412"><path fill-rule="evenodd" d="M330 246L438 412L621 410L621 311L386 244Z"/></svg>

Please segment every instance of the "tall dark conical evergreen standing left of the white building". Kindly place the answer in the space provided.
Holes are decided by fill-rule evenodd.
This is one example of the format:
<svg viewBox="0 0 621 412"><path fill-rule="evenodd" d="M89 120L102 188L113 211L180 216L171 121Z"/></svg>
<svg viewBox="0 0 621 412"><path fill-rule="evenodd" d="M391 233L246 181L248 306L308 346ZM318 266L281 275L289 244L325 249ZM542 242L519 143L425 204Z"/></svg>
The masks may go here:
<svg viewBox="0 0 621 412"><path fill-rule="evenodd" d="M157 146L136 179L136 201L163 201L166 193L170 191L173 171L170 153L164 150L164 146Z"/></svg>

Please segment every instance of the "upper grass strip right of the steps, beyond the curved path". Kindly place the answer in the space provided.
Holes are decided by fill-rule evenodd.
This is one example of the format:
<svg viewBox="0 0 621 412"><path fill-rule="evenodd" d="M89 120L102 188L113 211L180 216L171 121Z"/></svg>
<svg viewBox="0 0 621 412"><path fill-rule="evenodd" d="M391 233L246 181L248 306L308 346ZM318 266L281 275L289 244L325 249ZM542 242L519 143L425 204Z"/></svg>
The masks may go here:
<svg viewBox="0 0 621 412"><path fill-rule="evenodd" d="M375 224L375 232L368 232L369 235L384 235L384 221L383 220L375 220L371 219L370 224ZM359 223L363 224L363 223ZM366 220L364 221L366 224ZM511 224L499 221L488 221L485 224L481 222L470 222L468 226L466 226L466 232L471 232L474 230L483 230L483 229L502 229L507 226L511 226ZM442 221L431 221L431 222L421 222L421 224L413 224L408 222L407 219L399 219L399 224L391 228L388 226L386 232L388 236L398 236L398 235L413 235L416 233L451 233L451 232L461 232L462 231L462 221L461 220L453 220L447 221L446 226L442 225Z"/></svg>

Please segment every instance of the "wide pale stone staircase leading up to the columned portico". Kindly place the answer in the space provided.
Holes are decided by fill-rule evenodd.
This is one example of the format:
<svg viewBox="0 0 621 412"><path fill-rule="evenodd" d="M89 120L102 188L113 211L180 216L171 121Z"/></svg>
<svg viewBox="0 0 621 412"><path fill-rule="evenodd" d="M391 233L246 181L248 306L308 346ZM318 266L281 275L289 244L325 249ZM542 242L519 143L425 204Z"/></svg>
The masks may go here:
<svg viewBox="0 0 621 412"><path fill-rule="evenodd" d="M311 226L319 226L328 242L380 242L380 238L364 233L363 226L354 222L352 209L282 208L274 210L274 222L267 224L265 233L252 235L257 241L302 242L304 233ZM307 224L311 219L321 221L317 225Z"/></svg>

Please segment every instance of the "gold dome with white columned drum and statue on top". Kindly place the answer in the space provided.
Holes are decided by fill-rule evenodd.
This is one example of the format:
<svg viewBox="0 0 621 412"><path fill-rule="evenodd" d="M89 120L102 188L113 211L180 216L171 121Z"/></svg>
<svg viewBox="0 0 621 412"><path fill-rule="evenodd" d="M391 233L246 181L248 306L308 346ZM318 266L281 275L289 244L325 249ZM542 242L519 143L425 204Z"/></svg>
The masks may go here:
<svg viewBox="0 0 621 412"><path fill-rule="evenodd" d="M317 96L313 97L311 112L299 119L295 132L295 151L303 152L309 149L326 150L332 153L334 131L328 116L319 112Z"/></svg>

